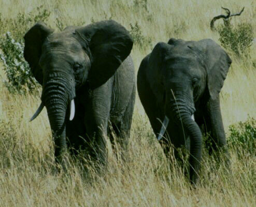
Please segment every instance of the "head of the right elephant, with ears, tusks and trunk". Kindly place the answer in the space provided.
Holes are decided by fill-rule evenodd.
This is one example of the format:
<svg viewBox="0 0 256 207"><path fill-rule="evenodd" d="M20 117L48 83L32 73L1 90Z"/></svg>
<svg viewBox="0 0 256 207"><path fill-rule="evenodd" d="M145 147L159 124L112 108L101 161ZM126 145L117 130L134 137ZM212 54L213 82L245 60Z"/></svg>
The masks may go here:
<svg viewBox="0 0 256 207"><path fill-rule="evenodd" d="M176 146L186 142L184 137L190 137L190 176L194 182L202 154L202 132L193 119L195 105L203 97L219 98L232 61L211 39L173 38L168 43L159 42L144 61L147 82L164 117L158 139L166 128Z"/></svg>

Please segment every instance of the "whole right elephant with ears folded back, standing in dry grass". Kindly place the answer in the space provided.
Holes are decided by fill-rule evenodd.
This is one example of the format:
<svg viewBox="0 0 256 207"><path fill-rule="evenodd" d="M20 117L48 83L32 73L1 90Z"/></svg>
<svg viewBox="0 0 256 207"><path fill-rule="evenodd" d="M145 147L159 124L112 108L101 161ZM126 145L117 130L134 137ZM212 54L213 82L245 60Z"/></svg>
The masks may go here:
<svg viewBox="0 0 256 207"><path fill-rule="evenodd" d="M165 116L168 117L160 143L166 154L168 141L175 148L187 145L192 183L200 169L201 130L210 135L210 153L226 144L219 93L231 62L229 55L211 39L172 38L168 43L159 42L138 70L138 95L154 134L159 137Z"/></svg>

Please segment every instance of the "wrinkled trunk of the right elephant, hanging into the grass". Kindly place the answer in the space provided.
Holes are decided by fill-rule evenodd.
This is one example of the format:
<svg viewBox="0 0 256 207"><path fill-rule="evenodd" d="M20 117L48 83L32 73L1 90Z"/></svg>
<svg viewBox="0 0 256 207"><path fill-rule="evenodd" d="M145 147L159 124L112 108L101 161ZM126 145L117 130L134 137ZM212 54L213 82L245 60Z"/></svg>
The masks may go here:
<svg viewBox="0 0 256 207"><path fill-rule="evenodd" d="M184 137L185 134L190 137L190 181L195 184L200 169L203 140L200 127L192 119L195 109L181 101L175 101L175 104L173 103L170 109L170 113L167 116L172 117L178 124L181 124L183 133L181 139L186 139Z"/></svg>

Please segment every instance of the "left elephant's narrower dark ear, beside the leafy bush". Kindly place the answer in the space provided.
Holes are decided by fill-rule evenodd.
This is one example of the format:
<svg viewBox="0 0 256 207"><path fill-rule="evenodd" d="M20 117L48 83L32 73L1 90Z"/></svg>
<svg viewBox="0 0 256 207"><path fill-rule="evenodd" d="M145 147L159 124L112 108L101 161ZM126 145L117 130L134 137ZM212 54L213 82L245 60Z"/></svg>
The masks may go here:
<svg viewBox="0 0 256 207"><path fill-rule="evenodd" d="M42 69L38 62L41 56L42 43L53 33L45 23L38 22L25 34L24 58L29 63L35 79L42 85Z"/></svg>

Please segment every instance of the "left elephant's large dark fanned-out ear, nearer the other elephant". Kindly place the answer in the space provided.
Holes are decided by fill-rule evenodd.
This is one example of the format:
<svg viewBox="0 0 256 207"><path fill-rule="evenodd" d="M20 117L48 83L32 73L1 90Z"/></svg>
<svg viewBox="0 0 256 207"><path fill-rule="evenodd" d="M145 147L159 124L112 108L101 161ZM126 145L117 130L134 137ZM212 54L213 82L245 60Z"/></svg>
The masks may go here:
<svg viewBox="0 0 256 207"><path fill-rule="evenodd" d="M133 40L129 32L113 20L100 21L76 29L91 53L89 84L96 88L114 75L131 53ZM86 51L88 52L88 51Z"/></svg>

